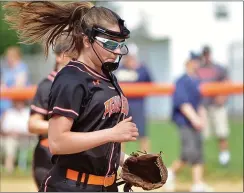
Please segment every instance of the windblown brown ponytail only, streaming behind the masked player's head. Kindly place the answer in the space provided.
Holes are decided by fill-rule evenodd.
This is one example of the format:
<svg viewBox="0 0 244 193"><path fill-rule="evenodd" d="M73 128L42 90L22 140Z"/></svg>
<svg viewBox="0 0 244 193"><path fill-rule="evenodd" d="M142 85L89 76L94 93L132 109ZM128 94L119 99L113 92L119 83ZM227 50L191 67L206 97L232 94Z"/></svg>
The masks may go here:
<svg viewBox="0 0 244 193"><path fill-rule="evenodd" d="M70 51L81 52L76 42L82 42L78 22L93 6L88 2L58 4L48 1L9 2L4 5L7 13L5 21L11 29L17 31L21 43L33 44L43 42L45 54L48 55L49 47L54 48L57 39L64 32L71 35Z"/></svg>

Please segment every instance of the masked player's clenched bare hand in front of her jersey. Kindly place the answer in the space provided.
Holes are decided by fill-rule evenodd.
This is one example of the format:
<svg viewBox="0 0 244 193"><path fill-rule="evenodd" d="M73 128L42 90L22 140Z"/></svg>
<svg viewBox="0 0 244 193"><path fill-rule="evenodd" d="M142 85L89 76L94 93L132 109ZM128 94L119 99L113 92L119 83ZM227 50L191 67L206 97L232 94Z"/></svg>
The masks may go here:
<svg viewBox="0 0 244 193"><path fill-rule="evenodd" d="M138 136L138 129L136 124L132 122L132 117L124 119L111 129L113 142L135 141Z"/></svg>

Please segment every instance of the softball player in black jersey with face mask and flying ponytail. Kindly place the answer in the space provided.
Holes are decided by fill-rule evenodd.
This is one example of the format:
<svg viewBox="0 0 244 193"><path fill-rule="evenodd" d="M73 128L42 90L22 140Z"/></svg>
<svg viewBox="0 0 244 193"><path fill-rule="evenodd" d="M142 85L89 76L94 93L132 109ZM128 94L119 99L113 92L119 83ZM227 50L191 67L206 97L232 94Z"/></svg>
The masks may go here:
<svg viewBox="0 0 244 193"><path fill-rule="evenodd" d="M121 142L135 141L139 135L112 73L128 53L125 40L130 31L124 20L87 2L5 6L16 7L12 14L19 14L7 21L23 32L22 38L44 39L48 48L66 31L72 38L70 51L79 55L56 75L51 87L48 141L54 166L39 191L118 191L116 174L126 157Z"/></svg>

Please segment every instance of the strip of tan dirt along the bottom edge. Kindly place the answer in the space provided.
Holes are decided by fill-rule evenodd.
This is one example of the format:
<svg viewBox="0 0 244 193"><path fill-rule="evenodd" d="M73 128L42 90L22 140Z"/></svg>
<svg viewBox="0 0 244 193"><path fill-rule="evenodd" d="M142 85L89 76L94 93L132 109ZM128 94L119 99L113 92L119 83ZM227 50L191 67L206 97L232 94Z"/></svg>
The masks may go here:
<svg viewBox="0 0 244 193"><path fill-rule="evenodd" d="M243 181L221 181L215 183L209 183L215 192L243 192ZM20 179L1 179L1 192L37 192L35 184L31 178L20 178ZM189 183L178 183L177 184L177 192L188 192L190 188ZM120 191L122 190L122 186L119 187ZM133 188L134 192L143 191L140 188ZM122 192L122 191L121 191ZM164 192L164 189L157 189L153 192Z"/></svg>

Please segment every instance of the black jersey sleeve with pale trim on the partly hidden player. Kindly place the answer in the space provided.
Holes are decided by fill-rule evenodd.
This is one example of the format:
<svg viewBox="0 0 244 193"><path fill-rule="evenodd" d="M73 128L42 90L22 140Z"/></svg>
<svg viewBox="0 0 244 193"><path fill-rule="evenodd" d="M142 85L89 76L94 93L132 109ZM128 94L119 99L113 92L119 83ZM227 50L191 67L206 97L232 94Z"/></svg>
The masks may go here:
<svg viewBox="0 0 244 193"><path fill-rule="evenodd" d="M38 87L34 99L31 104L31 114L39 113L42 115L48 114L48 97L51 87L51 82L41 82Z"/></svg>

